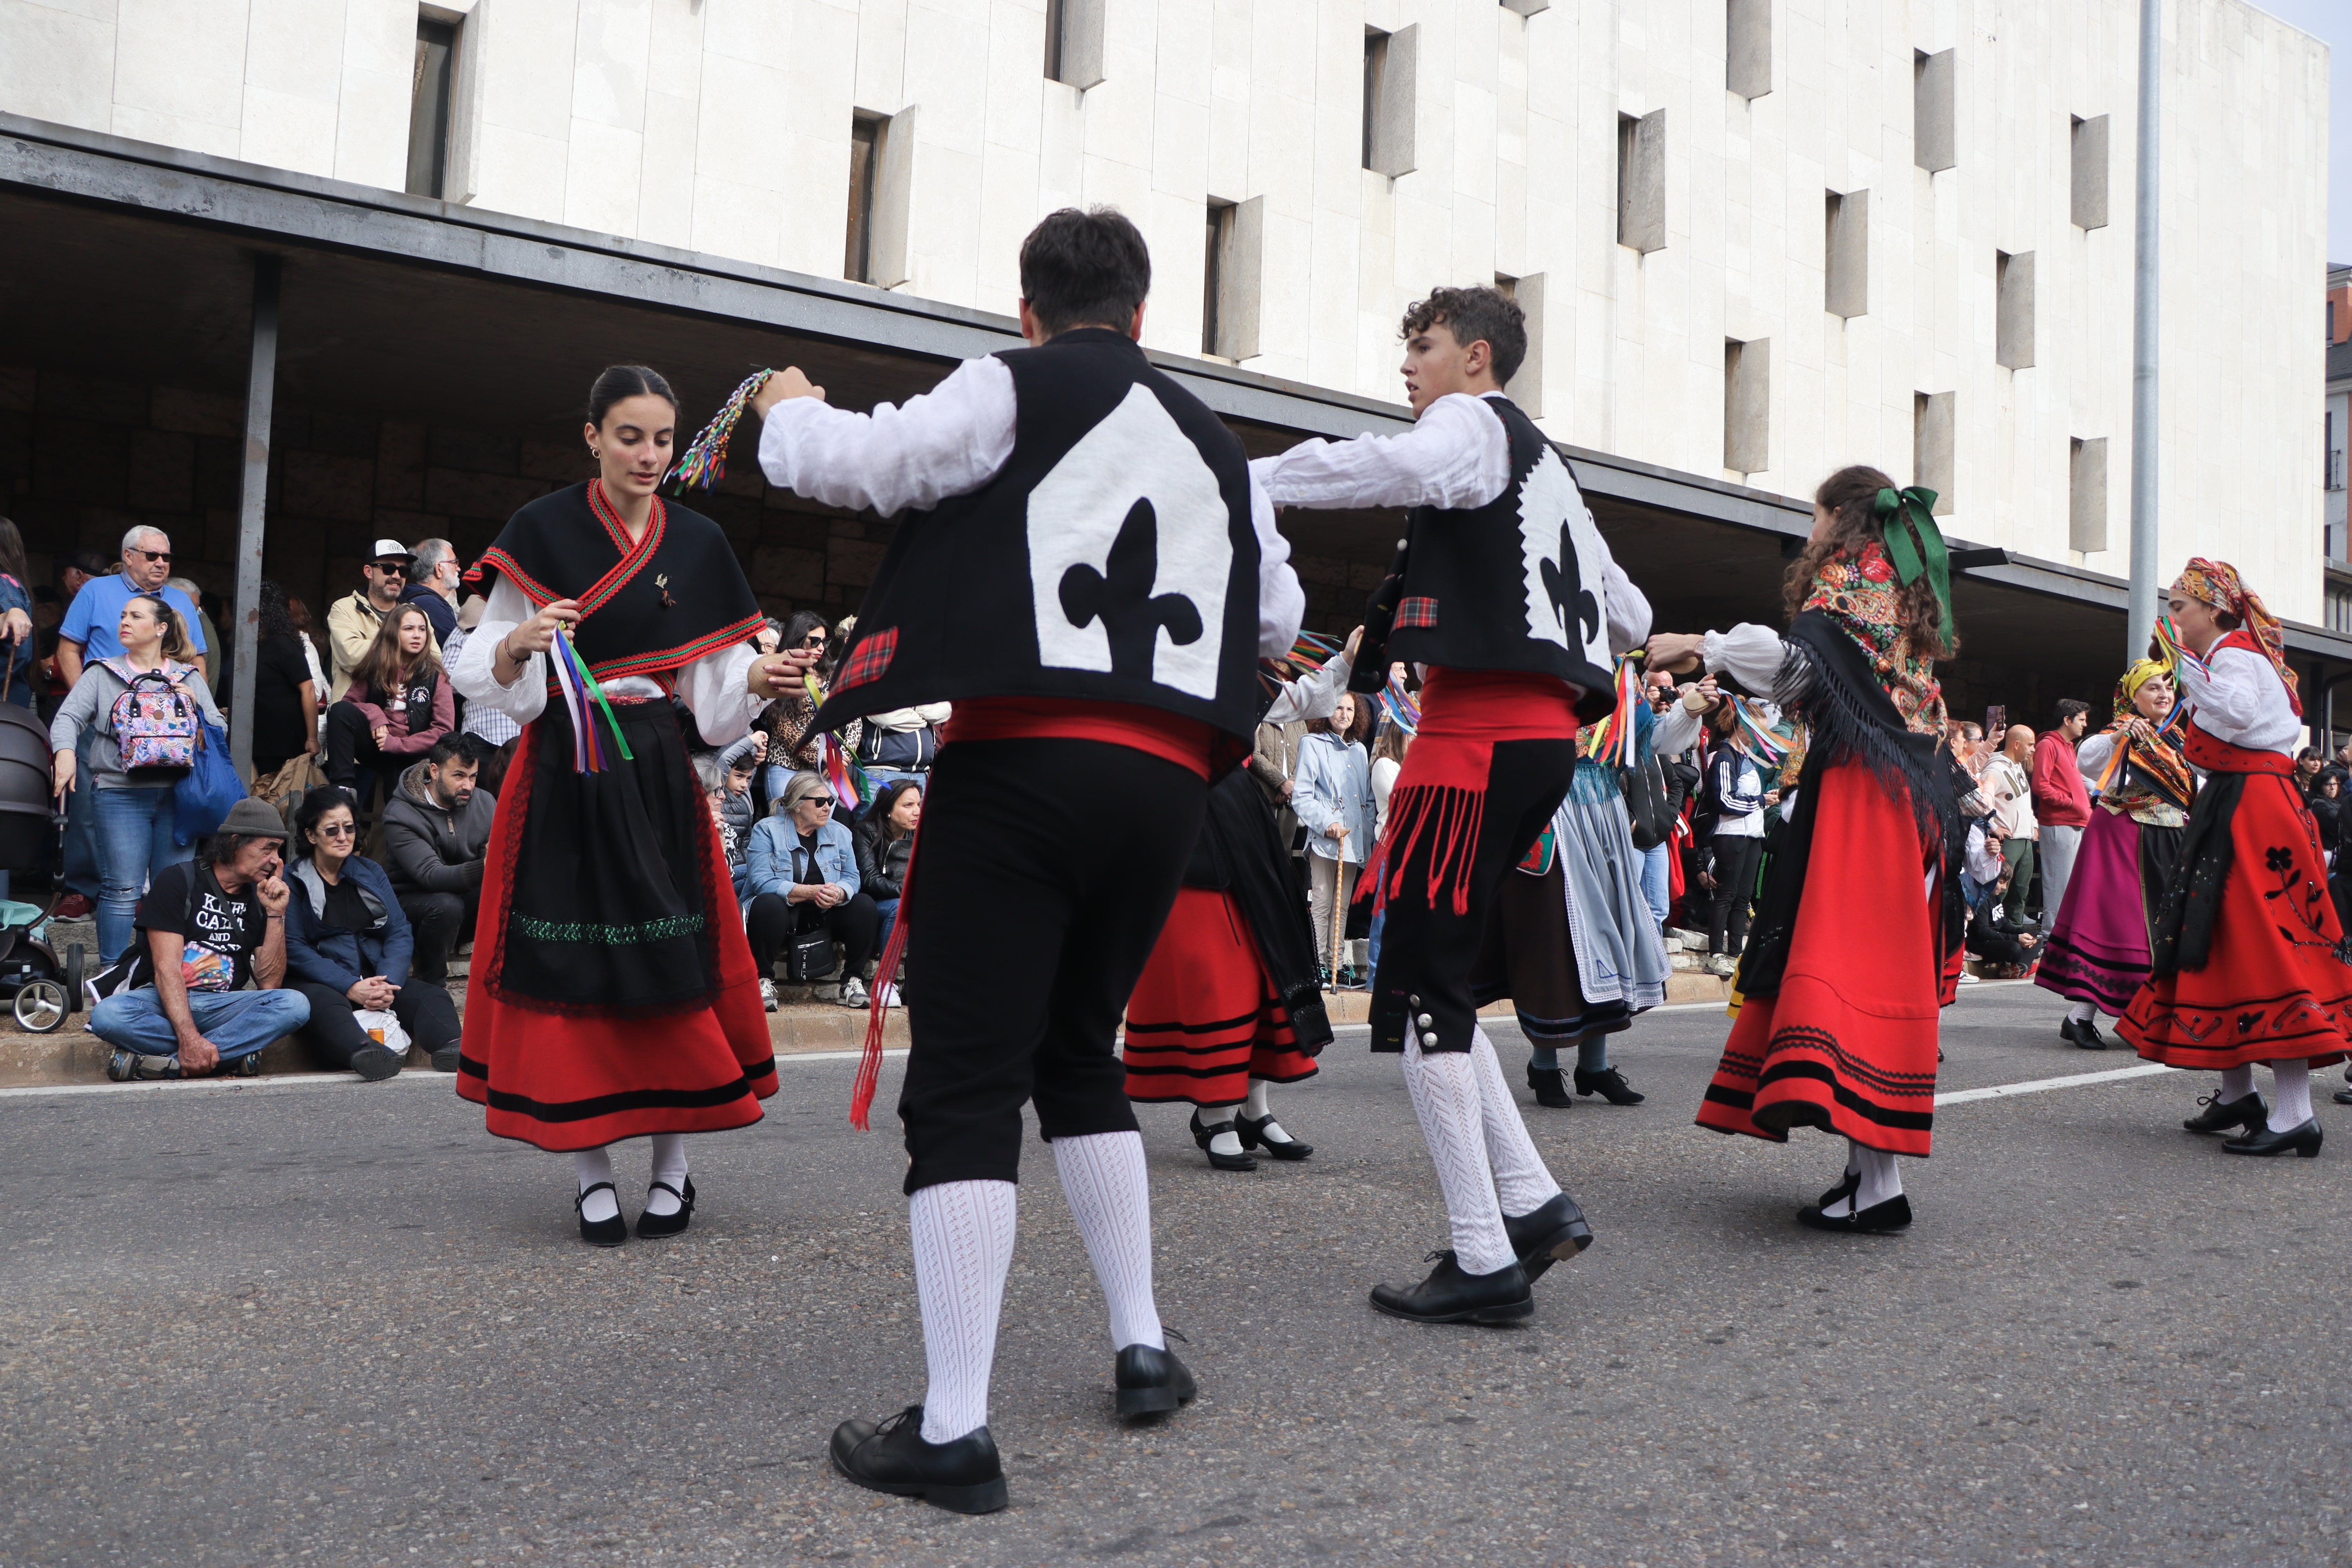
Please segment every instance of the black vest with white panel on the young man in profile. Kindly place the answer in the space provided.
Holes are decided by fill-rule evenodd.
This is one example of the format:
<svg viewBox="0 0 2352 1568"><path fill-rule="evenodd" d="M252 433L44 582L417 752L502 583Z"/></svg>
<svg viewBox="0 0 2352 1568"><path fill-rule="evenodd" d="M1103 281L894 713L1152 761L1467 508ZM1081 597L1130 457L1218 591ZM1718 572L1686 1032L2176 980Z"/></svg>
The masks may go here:
<svg viewBox="0 0 2352 1568"><path fill-rule="evenodd" d="M1486 505L1416 505L1388 658L1449 670L1529 670L1581 691L1588 722L1613 703L1609 559L1583 491L1534 421L1508 397L1479 397L1503 421L1510 484Z"/></svg>

